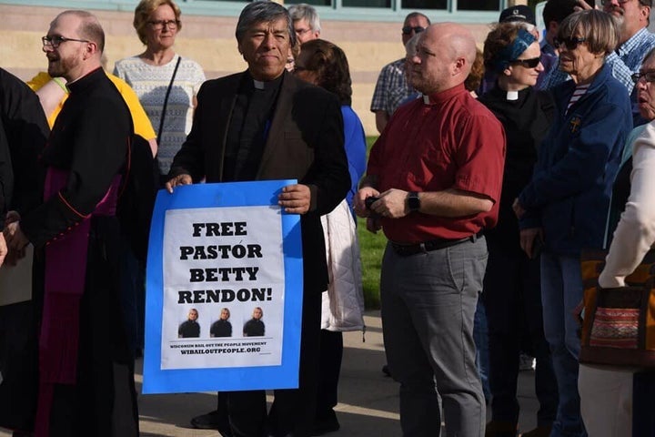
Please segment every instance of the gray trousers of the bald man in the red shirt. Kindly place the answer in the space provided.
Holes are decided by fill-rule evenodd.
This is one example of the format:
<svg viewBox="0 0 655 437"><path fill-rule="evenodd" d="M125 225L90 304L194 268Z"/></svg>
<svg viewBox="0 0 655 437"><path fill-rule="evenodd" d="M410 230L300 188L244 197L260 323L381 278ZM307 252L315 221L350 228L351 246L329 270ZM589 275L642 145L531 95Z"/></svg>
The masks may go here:
<svg viewBox="0 0 655 437"><path fill-rule="evenodd" d="M404 437L484 436L473 319L487 265L484 238L401 257L387 245L380 294L389 371L400 382Z"/></svg>

